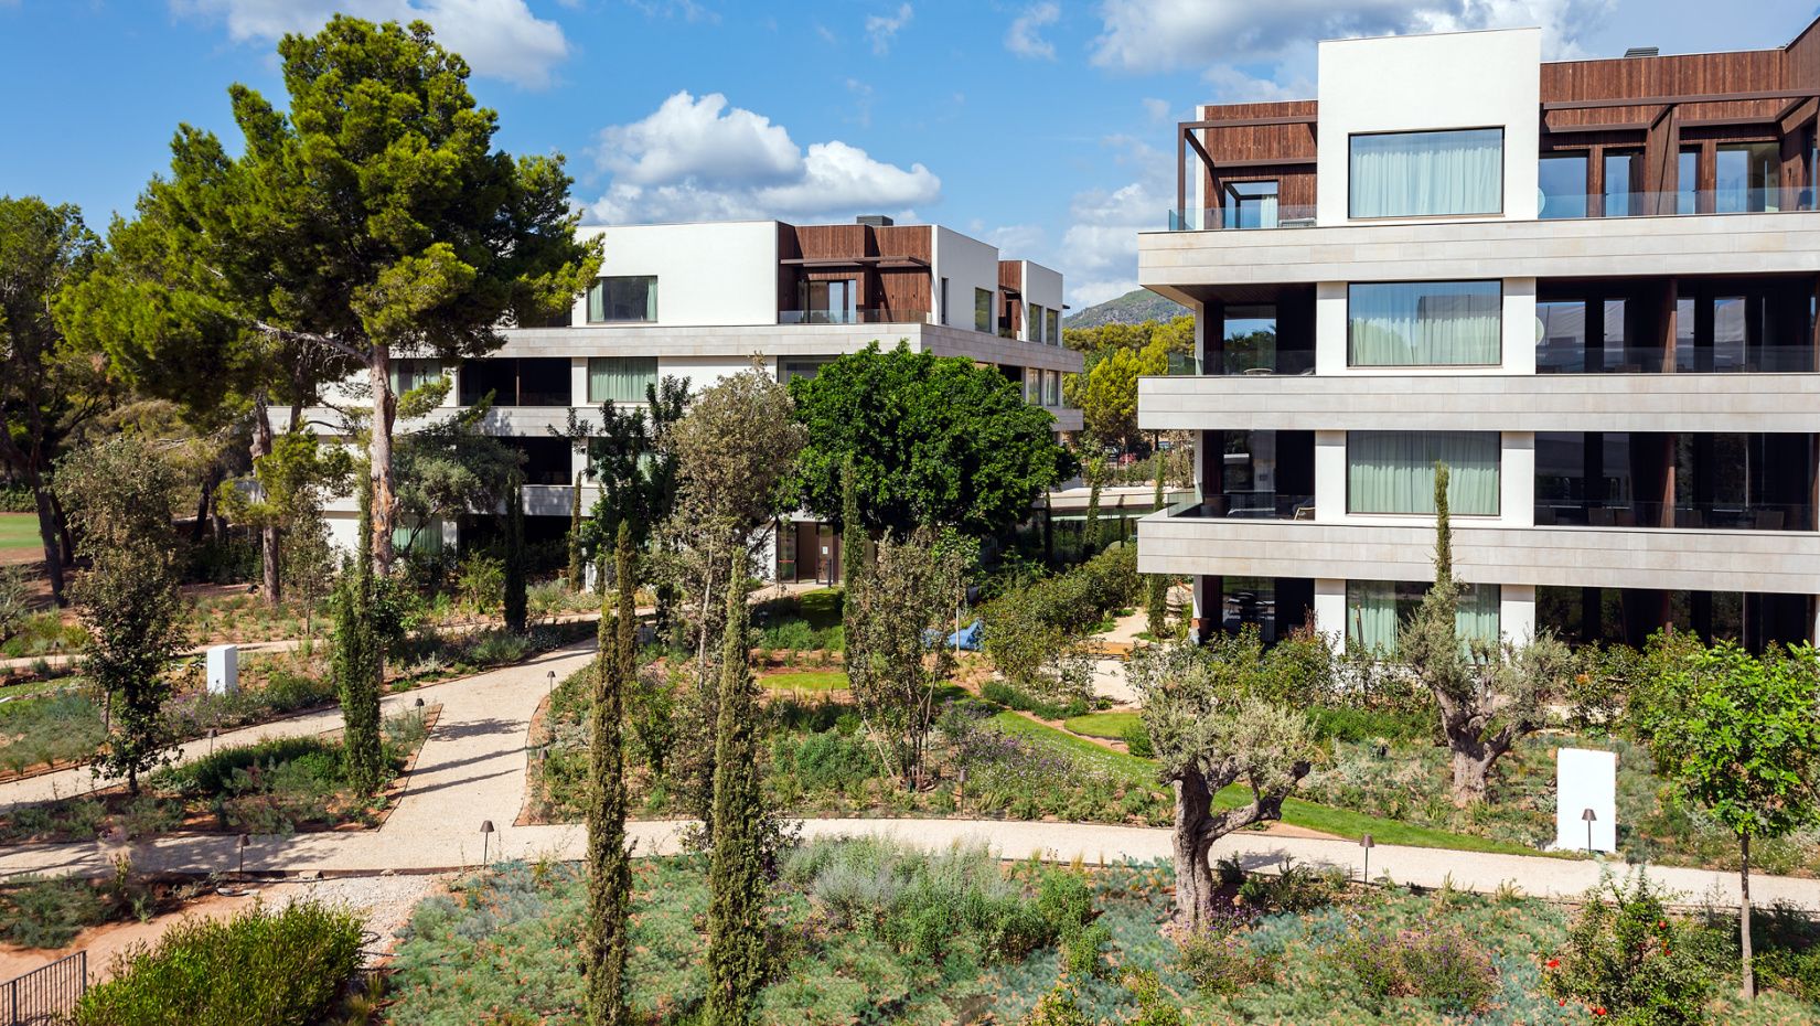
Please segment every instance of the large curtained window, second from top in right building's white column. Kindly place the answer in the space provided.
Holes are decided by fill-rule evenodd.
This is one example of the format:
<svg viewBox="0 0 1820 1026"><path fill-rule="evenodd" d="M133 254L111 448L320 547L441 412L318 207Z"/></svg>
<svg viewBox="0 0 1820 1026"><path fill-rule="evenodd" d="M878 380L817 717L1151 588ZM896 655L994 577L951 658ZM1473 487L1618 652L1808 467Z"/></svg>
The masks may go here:
<svg viewBox="0 0 1820 1026"><path fill-rule="evenodd" d="M1347 286L1347 364L1354 367L1496 366L1500 282Z"/></svg>

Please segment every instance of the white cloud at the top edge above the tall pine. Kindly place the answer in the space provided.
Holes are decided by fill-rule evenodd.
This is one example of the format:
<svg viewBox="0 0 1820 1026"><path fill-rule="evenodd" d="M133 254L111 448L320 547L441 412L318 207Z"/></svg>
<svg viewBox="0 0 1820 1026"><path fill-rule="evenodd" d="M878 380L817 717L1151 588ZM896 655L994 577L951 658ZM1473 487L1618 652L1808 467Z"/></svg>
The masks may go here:
<svg viewBox="0 0 1820 1026"><path fill-rule="evenodd" d="M313 33L337 11L375 22L424 20L475 75L531 89L550 86L551 69L570 53L562 25L537 18L524 0L171 0L171 9L228 22L235 42Z"/></svg>

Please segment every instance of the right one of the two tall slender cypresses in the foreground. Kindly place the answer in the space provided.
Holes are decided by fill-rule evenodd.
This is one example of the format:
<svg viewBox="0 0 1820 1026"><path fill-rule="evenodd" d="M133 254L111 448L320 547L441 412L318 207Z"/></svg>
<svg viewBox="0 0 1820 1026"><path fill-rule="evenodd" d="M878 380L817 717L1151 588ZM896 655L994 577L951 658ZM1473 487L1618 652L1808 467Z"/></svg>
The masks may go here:
<svg viewBox="0 0 1820 1026"><path fill-rule="evenodd" d="M764 797L757 702L746 666L744 551L733 555L721 644L713 744L713 855L708 875L708 1026L748 1026L764 981Z"/></svg>

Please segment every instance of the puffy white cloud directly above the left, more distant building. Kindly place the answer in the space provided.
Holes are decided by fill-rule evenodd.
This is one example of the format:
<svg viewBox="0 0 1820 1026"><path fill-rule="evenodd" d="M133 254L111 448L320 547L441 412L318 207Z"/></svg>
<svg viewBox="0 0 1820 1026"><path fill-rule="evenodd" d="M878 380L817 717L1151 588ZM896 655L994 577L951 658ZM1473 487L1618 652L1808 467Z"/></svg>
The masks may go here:
<svg viewBox="0 0 1820 1026"><path fill-rule="evenodd" d="M642 120L602 129L595 158L613 176L588 209L604 224L914 216L912 207L941 198L941 178L921 164L885 164L839 140L801 149L783 126L721 93L677 93Z"/></svg>

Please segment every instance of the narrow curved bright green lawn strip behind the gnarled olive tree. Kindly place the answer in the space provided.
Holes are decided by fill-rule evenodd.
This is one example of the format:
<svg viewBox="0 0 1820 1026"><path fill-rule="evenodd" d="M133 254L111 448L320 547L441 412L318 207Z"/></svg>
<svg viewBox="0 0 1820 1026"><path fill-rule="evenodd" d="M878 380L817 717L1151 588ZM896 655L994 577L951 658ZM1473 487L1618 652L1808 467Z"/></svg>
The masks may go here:
<svg viewBox="0 0 1820 1026"><path fill-rule="evenodd" d="M1052 726L1039 724L1028 717L1021 717L1012 711L999 713L994 719L994 722L1006 733L1026 737L1045 748L1067 753L1068 757L1077 759L1088 766L1094 766L1096 770L1101 770L1121 780L1128 780L1132 784L1156 782L1156 762L1148 759L1138 759L1136 755L1112 751L1110 748L1094 744L1081 737L1074 737ZM1239 784L1234 784L1219 791L1216 804L1219 808L1238 808L1249 800L1250 793ZM1452 848L1460 851L1498 851L1505 855L1540 855L1540 851L1536 851L1534 848L1522 844L1507 844L1502 840L1492 840L1489 837L1476 837L1471 833L1451 833L1445 830L1410 826L1407 822L1398 822L1394 819L1381 819L1341 808L1320 806L1301 799L1289 799L1283 802L1283 822L1290 826L1301 826L1307 830L1320 830L1321 833L1332 833L1336 837L1347 837L1350 840L1358 840L1360 837L1370 833L1372 840L1381 844L1407 844L1410 848Z"/></svg>

